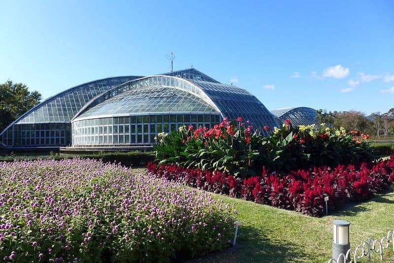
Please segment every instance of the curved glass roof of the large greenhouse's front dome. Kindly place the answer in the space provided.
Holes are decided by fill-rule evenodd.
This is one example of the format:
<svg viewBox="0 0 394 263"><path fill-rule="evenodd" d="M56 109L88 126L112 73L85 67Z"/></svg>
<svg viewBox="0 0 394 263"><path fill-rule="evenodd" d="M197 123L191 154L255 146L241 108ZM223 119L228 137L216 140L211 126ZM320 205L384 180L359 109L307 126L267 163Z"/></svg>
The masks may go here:
<svg viewBox="0 0 394 263"><path fill-rule="evenodd" d="M169 93L169 90L164 89L161 90L163 95L160 95L157 91L164 87L183 92ZM139 94L139 92L142 93ZM157 95L150 95L151 93ZM118 96L120 94L122 96ZM152 96L156 96L157 99L151 98ZM121 100L124 101L121 102ZM191 100L199 102L194 106L190 104ZM149 103L156 103L156 105ZM186 105L189 105L189 109ZM244 89L218 82L188 80L164 75L132 80L97 96L81 108L73 121L97 117L96 115L101 116L104 113L122 115L123 112L127 115L151 111L191 112L195 110L220 112L222 117L232 120L242 117L245 121L249 120L255 127L278 126L274 116L263 103Z"/></svg>

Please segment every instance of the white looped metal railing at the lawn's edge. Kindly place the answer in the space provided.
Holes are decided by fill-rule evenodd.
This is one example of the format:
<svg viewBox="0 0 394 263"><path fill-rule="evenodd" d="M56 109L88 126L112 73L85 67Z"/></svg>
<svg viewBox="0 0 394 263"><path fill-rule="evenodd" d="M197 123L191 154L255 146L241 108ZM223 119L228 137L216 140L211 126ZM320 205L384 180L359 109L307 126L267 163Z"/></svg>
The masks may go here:
<svg viewBox="0 0 394 263"><path fill-rule="evenodd" d="M328 263L357 263L362 258L368 258L368 262L372 263L372 257L377 253L379 259L383 261L383 252L385 249L392 247L394 252L394 230L387 232L387 236L382 239L369 238L367 241L358 245L355 250L352 248L345 254L341 253L337 259L330 259Z"/></svg>

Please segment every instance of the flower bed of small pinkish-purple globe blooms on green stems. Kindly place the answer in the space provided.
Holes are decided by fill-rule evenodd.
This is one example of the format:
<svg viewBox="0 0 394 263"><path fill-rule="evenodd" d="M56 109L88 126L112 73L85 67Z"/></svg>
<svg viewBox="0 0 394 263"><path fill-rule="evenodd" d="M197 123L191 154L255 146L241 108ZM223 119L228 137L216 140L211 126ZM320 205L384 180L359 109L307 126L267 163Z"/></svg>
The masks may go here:
<svg viewBox="0 0 394 263"><path fill-rule="evenodd" d="M0 163L0 259L168 262L227 246L234 210L180 183L86 159Z"/></svg>

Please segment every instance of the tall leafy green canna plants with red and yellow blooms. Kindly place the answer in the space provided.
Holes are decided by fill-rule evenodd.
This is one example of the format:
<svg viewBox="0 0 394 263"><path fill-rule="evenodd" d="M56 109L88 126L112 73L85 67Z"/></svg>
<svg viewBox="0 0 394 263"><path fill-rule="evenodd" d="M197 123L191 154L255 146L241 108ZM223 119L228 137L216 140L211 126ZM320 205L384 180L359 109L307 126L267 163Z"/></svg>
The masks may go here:
<svg viewBox="0 0 394 263"><path fill-rule="evenodd" d="M259 174L263 166L288 173L376 159L368 134L333 129L325 124L294 127L290 120L281 128L260 129L249 122L245 124L242 118L236 121L224 118L211 129L180 127L170 134L159 133L158 139L155 161L159 164L219 170L242 178Z"/></svg>

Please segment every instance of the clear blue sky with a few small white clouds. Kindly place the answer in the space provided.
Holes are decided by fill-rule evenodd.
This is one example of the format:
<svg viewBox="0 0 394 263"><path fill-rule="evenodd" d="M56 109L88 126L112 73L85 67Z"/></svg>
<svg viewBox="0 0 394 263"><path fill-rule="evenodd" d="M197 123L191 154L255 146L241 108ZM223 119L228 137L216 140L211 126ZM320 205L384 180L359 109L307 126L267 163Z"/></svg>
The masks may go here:
<svg viewBox="0 0 394 263"><path fill-rule="evenodd" d="M268 109L394 107L394 1L2 1L0 82L50 97L193 65Z"/></svg>

